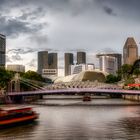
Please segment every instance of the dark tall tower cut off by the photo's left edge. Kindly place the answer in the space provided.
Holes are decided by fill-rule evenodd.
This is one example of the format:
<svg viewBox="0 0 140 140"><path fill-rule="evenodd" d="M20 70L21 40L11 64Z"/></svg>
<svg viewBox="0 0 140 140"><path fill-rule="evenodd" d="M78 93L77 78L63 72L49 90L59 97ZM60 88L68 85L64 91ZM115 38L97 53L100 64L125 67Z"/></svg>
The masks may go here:
<svg viewBox="0 0 140 140"><path fill-rule="evenodd" d="M0 67L5 67L6 37L0 34Z"/></svg>

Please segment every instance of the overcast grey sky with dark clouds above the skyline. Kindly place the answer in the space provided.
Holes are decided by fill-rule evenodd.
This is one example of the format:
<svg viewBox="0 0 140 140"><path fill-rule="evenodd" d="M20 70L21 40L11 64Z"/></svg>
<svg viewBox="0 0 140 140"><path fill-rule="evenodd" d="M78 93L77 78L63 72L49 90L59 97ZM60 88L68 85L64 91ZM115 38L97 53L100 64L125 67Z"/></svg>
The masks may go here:
<svg viewBox="0 0 140 140"><path fill-rule="evenodd" d="M37 69L37 52L122 53L127 37L140 42L140 0L0 0L0 33L7 37L7 64Z"/></svg>

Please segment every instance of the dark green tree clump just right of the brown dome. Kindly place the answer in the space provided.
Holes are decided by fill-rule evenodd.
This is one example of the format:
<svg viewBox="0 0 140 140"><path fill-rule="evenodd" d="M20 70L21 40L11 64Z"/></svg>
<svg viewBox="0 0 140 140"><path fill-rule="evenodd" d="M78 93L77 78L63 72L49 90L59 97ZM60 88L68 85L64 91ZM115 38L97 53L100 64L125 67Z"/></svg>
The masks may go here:
<svg viewBox="0 0 140 140"><path fill-rule="evenodd" d="M106 83L116 83L120 80L121 80L121 78L119 76L115 76L115 75L112 75L112 74L109 74L106 77Z"/></svg>

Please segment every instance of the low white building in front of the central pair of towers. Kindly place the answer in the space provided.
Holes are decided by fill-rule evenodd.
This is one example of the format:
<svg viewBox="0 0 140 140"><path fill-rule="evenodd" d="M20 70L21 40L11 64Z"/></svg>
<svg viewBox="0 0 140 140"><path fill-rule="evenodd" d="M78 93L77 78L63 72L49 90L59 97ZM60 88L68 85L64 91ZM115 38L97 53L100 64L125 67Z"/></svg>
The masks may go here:
<svg viewBox="0 0 140 140"><path fill-rule="evenodd" d="M70 65L70 69L71 74L78 74L82 71L94 70L95 66L94 64L78 64L78 65Z"/></svg>

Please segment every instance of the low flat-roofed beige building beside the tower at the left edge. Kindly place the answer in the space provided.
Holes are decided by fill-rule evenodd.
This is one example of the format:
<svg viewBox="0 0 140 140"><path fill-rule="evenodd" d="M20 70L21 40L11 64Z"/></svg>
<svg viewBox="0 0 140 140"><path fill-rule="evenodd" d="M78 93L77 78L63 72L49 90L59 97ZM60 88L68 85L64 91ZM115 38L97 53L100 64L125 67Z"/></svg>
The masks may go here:
<svg viewBox="0 0 140 140"><path fill-rule="evenodd" d="M7 70L15 72L25 72L25 66L23 65L7 65Z"/></svg>

